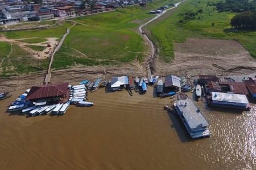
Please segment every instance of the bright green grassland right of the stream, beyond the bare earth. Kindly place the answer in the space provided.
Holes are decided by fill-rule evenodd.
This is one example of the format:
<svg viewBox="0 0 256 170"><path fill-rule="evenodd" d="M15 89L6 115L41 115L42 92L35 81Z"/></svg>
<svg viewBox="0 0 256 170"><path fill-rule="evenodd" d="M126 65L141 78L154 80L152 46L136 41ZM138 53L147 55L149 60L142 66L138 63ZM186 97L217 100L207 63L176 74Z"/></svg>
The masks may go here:
<svg viewBox="0 0 256 170"><path fill-rule="evenodd" d="M217 0L212 0L217 2ZM158 25L151 25L152 40L160 44L160 58L170 62L174 57L173 42L184 42L188 37L213 38L239 41L250 54L256 57L255 31L236 31L230 30L230 19L235 15L230 12L218 13L214 6L207 6L207 0L187 0L174 12ZM179 24L183 16L179 15L187 11L196 12L203 9L203 14L199 14L201 19L191 20L185 24ZM214 26L212 26L214 23ZM157 42L158 41L158 42Z"/></svg>

